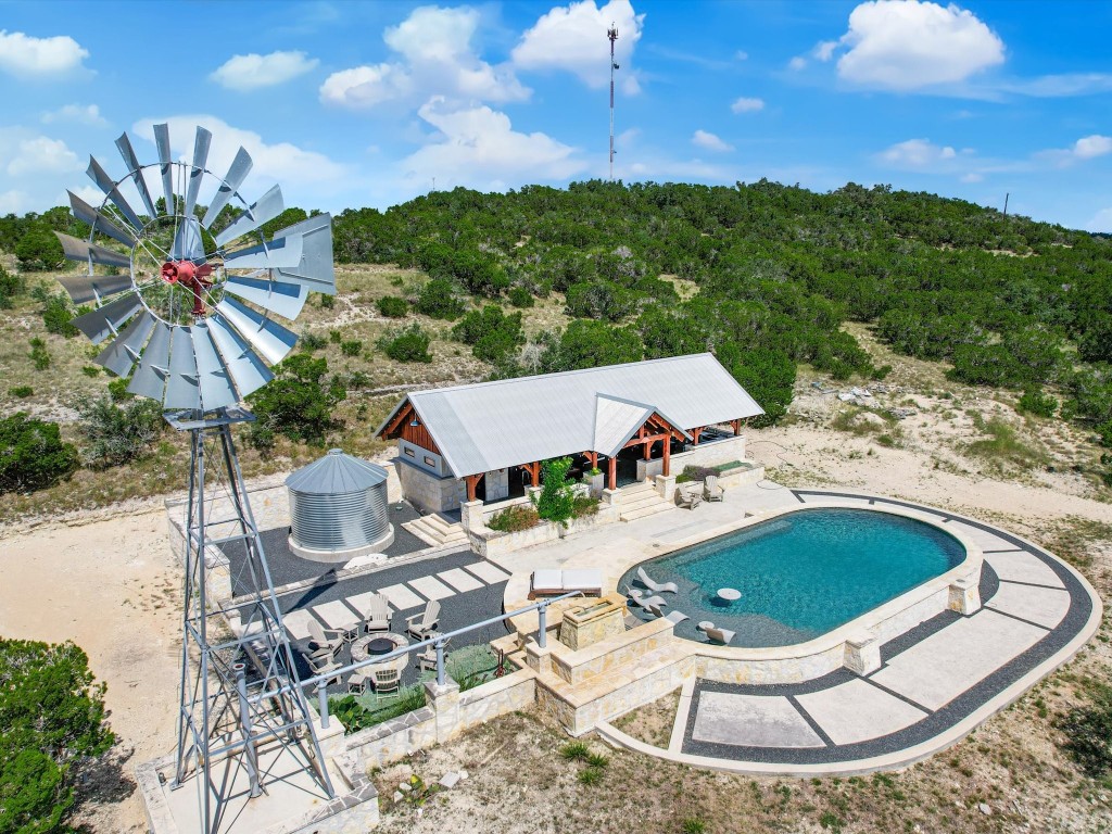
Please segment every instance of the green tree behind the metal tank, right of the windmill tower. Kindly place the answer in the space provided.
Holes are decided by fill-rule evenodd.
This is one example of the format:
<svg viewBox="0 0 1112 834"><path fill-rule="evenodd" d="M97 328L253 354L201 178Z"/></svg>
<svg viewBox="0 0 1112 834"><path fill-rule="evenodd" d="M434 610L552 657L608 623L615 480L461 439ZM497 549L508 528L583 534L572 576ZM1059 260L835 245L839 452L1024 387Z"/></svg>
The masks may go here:
<svg viewBox="0 0 1112 834"><path fill-rule="evenodd" d="M336 423L332 409L347 399L347 389L336 378L326 378L328 360L295 354L275 366L269 385L247 397L255 411L250 440L259 447L274 444L275 435L290 440L324 443Z"/></svg>

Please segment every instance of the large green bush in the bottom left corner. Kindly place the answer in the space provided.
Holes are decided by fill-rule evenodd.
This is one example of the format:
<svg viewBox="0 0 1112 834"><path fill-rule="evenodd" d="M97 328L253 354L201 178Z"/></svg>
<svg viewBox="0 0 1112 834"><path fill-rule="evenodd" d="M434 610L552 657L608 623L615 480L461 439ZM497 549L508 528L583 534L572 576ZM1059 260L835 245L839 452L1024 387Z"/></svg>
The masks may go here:
<svg viewBox="0 0 1112 834"><path fill-rule="evenodd" d="M0 638L0 832L72 831L77 770L116 743L105 716L76 645Z"/></svg>

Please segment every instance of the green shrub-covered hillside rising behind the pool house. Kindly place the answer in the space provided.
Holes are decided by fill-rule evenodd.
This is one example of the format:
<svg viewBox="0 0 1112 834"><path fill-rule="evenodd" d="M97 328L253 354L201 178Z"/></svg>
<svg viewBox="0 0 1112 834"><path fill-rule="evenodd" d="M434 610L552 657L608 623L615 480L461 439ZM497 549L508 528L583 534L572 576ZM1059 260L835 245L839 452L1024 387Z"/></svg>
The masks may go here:
<svg viewBox="0 0 1112 834"><path fill-rule="evenodd" d="M301 217L290 209L270 226ZM14 256L0 285L9 380L0 407L57 420L83 447L75 405L105 395L110 380L91 363L96 349L66 335L72 310L57 272L37 271L60 266L51 229L85 234L62 209L0 219L0 247ZM325 440L378 450L374 428L407 386L712 350L768 421L793 418L801 367L808 381L847 388L892 385L890 374L925 363L942 387L1007 405L1014 426L965 417L989 448L1004 449L1001 471L1065 469L1108 496L1109 459L1096 443L1112 443L1112 245L1103 238L883 187L821 195L767 181L592 181L347 210L335 220L335 255L339 296L315 298L297 328L308 336L300 350L327 360L317 383L340 384L346 399L312 444L279 427L265 454L248 449L249 473L310 459ZM48 356L38 369L34 338L38 364ZM853 417L828 419L850 430ZM898 441L878 425L874 434ZM0 495L0 519L175 489L186 456L161 431L126 477L93 463L59 486Z"/></svg>

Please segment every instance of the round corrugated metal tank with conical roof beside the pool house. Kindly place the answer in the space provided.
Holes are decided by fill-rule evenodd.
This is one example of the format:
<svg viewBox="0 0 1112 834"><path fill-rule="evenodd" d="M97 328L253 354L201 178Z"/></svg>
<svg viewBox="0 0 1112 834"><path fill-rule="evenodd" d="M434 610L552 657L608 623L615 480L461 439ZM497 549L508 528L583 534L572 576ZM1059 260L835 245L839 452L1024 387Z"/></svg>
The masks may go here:
<svg viewBox="0 0 1112 834"><path fill-rule="evenodd" d="M286 478L290 539L312 550L351 550L390 532L387 473L380 466L331 449Z"/></svg>

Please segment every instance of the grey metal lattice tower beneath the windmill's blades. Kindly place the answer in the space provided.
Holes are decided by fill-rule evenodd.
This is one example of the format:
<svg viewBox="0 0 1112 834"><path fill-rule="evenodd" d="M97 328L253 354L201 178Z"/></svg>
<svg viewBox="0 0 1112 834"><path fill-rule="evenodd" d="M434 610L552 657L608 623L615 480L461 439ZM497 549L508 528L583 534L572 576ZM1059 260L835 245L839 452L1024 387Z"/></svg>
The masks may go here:
<svg viewBox="0 0 1112 834"><path fill-rule="evenodd" d="M189 433L191 461L173 787L196 781L203 832L212 834L232 796L266 791L262 755L294 756L329 797L335 793L232 441L232 424L252 417L221 410L167 419ZM246 555L238 578L248 590L234 605L226 602L224 610L209 599L208 584L212 548L219 546L237 546Z"/></svg>

